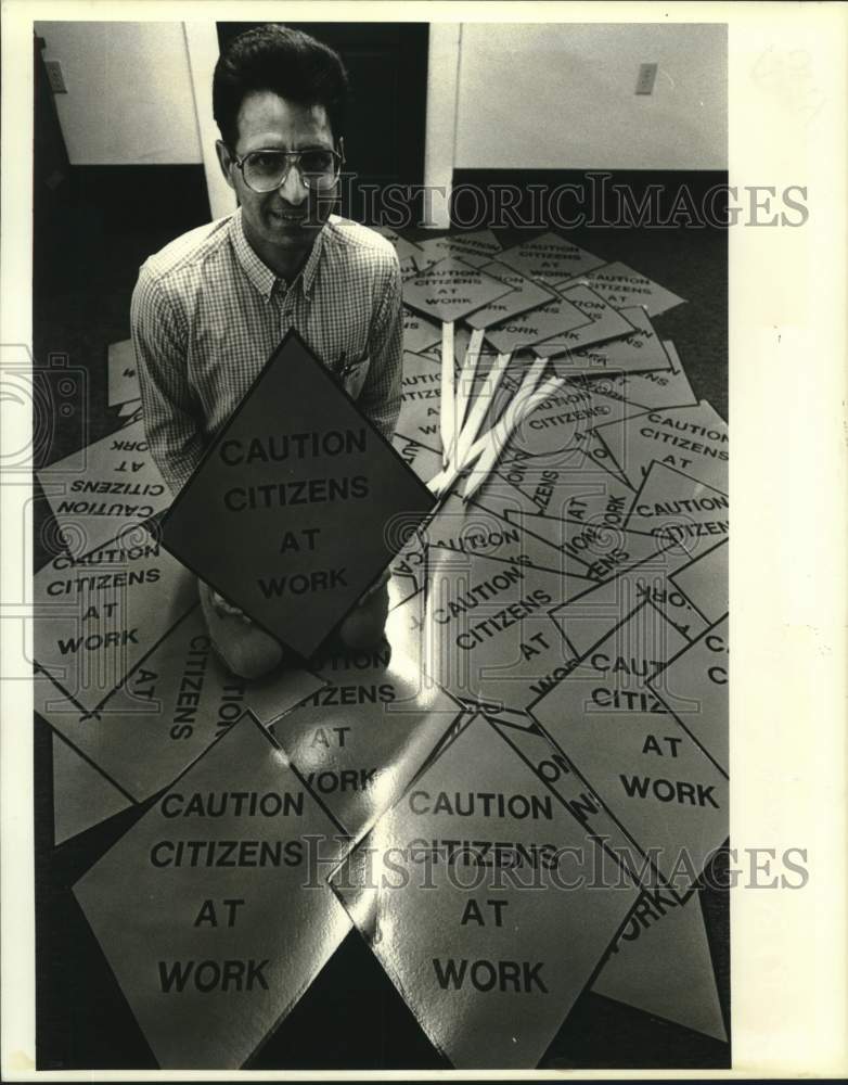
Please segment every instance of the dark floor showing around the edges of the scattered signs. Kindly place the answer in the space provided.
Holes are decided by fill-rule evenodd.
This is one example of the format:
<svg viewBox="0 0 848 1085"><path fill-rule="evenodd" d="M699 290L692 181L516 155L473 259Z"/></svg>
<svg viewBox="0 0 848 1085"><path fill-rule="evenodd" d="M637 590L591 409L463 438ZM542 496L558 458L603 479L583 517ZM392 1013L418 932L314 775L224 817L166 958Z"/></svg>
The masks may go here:
<svg viewBox="0 0 848 1085"><path fill-rule="evenodd" d="M106 406L106 349L129 335L129 298L140 263L182 230L204 221L208 207L180 190L167 218L137 214L120 193L103 199L94 179L77 186L70 214L54 216L37 244L35 361L66 356L78 382L73 417L39 449L47 463L113 432ZM155 201L153 203L155 207ZM164 204L159 203L159 206ZM57 226L55 224L59 224ZM414 237L414 234L411 234ZM516 240L509 234L504 244ZM584 230L571 240L631 264L689 304L659 317L695 393L727 419L727 237L719 231ZM50 378L48 378L50 379ZM47 502L34 494L34 561L52 552ZM153 1068L155 1061L77 907L70 885L143 813L127 810L54 848L49 729L35 730L37 1029L43 1070ZM727 864L727 854L716 859ZM702 892L719 995L730 1013L729 914L725 893ZM375 1010L376 1008L376 1010ZM650 1018L601 996L581 996L554 1038L541 1069L724 1068L729 1045ZM352 933L250 1069L446 1069L362 940Z"/></svg>

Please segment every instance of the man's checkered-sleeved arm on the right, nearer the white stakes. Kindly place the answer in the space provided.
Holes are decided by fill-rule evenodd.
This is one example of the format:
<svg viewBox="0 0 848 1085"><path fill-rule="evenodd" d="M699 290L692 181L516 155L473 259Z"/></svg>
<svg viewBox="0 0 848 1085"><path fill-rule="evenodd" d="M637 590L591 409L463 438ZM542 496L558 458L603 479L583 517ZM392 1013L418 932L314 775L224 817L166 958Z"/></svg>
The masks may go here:
<svg viewBox="0 0 848 1085"><path fill-rule="evenodd" d="M403 369L403 320L400 310L401 280L397 255L390 254L382 286L381 303L369 333L369 366L358 406L386 441L391 441L400 413L400 380Z"/></svg>

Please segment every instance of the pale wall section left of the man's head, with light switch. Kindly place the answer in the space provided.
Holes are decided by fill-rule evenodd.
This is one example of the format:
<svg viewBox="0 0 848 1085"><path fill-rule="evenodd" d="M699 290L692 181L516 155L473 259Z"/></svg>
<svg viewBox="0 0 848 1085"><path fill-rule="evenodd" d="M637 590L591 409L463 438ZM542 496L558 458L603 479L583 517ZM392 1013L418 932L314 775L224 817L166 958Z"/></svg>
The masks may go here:
<svg viewBox="0 0 848 1085"><path fill-rule="evenodd" d="M37 22L44 60L62 62L56 94L73 166L202 162L181 23Z"/></svg>

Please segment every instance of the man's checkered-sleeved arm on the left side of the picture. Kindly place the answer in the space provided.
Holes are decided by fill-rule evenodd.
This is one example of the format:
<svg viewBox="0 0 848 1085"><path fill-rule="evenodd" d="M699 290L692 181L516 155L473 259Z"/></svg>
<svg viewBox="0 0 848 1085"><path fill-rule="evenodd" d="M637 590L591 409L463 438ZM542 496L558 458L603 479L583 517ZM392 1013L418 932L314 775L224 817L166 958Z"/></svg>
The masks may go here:
<svg viewBox="0 0 848 1085"><path fill-rule="evenodd" d="M132 293L130 326L147 444L176 497L201 459L203 436L188 381L188 328L146 266Z"/></svg>

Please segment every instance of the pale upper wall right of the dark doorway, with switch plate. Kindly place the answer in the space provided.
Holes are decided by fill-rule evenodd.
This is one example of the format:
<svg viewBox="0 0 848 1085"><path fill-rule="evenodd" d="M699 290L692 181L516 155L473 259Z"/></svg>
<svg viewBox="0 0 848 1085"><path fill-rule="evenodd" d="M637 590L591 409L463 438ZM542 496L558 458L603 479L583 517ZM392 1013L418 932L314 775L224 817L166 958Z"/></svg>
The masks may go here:
<svg viewBox="0 0 848 1085"><path fill-rule="evenodd" d="M722 24L465 23L453 165L725 169L725 42Z"/></svg>

